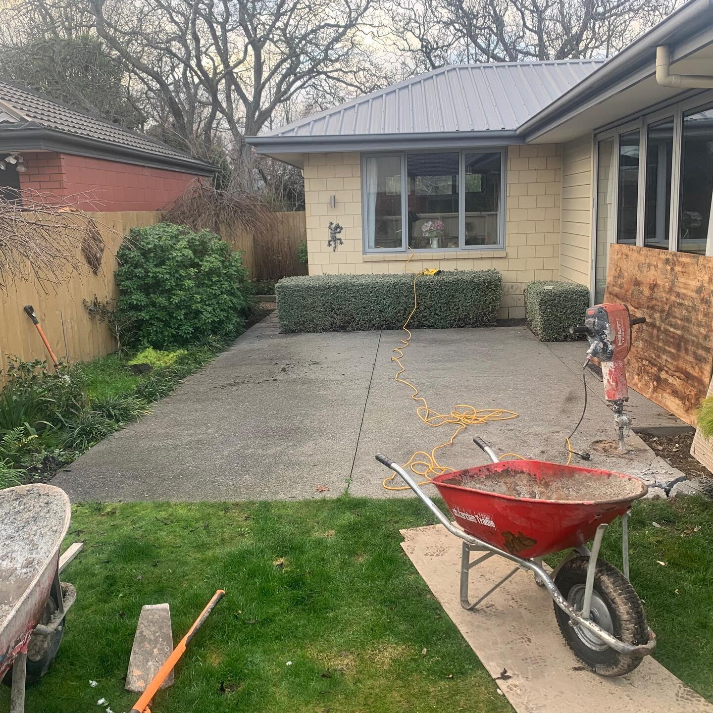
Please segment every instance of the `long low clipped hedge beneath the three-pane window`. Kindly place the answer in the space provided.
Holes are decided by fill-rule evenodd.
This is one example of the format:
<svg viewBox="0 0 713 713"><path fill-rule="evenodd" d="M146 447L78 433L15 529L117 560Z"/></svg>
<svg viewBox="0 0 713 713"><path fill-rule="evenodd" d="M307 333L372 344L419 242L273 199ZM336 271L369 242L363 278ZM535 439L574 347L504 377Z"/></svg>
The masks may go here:
<svg viewBox="0 0 713 713"><path fill-rule="evenodd" d="M282 332L399 329L414 307L413 275L284 277L276 287ZM487 327L503 294L497 270L452 270L419 275L419 307L411 327Z"/></svg>

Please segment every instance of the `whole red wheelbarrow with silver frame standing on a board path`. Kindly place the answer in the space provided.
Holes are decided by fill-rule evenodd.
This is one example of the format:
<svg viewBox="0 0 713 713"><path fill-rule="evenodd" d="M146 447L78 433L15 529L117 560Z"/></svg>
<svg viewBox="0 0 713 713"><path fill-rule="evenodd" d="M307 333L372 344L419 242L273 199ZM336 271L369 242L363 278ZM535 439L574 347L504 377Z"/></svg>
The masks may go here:
<svg viewBox="0 0 713 713"><path fill-rule="evenodd" d="M622 473L543 461L500 461L481 438L473 441L491 458L486 466L436 476L434 483L456 525L409 473L377 455L401 478L443 527L463 540L461 605L473 611L518 570L535 575L554 602L565 641L588 670L622 676L656 647L641 600L629 582L630 506L647 493L638 478ZM602 537L622 520L624 572L599 558ZM586 543L593 540L591 549ZM551 573L543 557L568 550ZM485 554L471 562L472 552ZM517 566L476 602L468 599L468 573L493 555Z"/></svg>

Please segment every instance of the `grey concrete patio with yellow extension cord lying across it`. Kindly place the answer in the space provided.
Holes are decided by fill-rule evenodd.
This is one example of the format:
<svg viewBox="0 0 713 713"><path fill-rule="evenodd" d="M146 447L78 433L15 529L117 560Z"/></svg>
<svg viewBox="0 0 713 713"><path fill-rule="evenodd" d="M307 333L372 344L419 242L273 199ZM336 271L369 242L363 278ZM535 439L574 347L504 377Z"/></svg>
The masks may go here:
<svg viewBox="0 0 713 713"><path fill-rule="evenodd" d="M381 487L388 473L374 454L406 461L453 432L422 424L411 390L394 381L391 350L401 334L279 334L270 315L155 404L153 414L91 448L53 482L75 501L322 498L347 488L355 495L398 495ZM405 376L432 409L471 404L520 414L470 426L443 451L441 463L486 462L474 435L499 453L565 461L564 436L582 408L576 362L584 351L581 343L543 344L524 327L414 331ZM587 378L588 412L575 449L613 437L602 386ZM669 422L657 415L659 407L634 399L647 425ZM593 452L585 464L645 477L653 472L663 480L679 476L634 434L631 445L627 456Z"/></svg>

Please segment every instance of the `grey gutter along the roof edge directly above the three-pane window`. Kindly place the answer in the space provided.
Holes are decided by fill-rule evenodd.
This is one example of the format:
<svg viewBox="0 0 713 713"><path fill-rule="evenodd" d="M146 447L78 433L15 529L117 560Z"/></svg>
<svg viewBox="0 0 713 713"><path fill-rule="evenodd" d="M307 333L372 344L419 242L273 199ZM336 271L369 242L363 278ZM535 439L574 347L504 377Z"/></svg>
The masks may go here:
<svg viewBox="0 0 713 713"><path fill-rule="evenodd" d="M250 136L245 142L259 153L324 153L325 151L461 148L524 143L514 129L424 133L359 134L350 136Z"/></svg>

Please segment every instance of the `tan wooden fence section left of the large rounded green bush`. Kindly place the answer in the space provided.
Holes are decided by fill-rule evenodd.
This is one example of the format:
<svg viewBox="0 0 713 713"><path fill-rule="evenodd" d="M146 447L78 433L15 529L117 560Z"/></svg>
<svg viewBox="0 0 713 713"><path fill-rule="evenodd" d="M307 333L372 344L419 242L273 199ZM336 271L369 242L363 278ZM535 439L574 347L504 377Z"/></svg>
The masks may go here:
<svg viewBox="0 0 713 713"><path fill-rule="evenodd" d="M96 296L101 302L115 299L116 251L132 227L153 225L160 220L158 212L99 212L89 214L96 222L106 248L97 275L83 257L83 270L59 284L56 294L32 282L16 282L9 292L0 290L0 369L5 369L8 356L20 359L46 359L37 330L23 311L26 304L35 308L40 324L58 359L86 361L116 349L116 342L106 324L89 316L83 301ZM67 220L76 220L68 216ZM66 344L66 347L65 347Z"/></svg>

